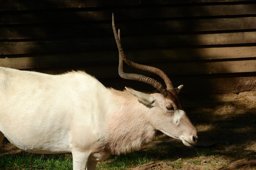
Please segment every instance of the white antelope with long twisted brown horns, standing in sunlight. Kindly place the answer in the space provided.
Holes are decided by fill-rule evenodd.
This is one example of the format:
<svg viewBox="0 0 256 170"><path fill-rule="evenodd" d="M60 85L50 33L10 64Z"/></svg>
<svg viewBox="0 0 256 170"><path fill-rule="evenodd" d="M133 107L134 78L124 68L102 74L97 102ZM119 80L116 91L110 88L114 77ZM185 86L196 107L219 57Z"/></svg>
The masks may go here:
<svg viewBox="0 0 256 170"><path fill-rule="evenodd" d="M183 111L170 79L160 69L126 58L112 18L121 77L154 86L160 93L104 87L84 72L48 75L0 67L0 144L4 136L31 153L72 153L74 170L95 170L111 153L140 149L156 130L186 146L197 131ZM160 75L166 84L137 74L130 66ZM180 89L177 89L178 92Z"/></svg>

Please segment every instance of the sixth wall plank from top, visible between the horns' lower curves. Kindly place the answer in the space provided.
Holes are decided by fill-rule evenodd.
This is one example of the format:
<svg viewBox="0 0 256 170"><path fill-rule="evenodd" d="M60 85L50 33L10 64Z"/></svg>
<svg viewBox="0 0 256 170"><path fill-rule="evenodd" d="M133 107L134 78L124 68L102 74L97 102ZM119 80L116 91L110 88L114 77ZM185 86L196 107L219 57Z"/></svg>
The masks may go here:
<svg viewBox="0 0 256 170"><path fill-rule="evenodd" d="M173 62L173 63L154 63L150 64L156 68L160 68L167 75L201 75L201 74L219 74L219 73L245 73L256 72L256 60L242 61L204 61L204 62ZM71 70L85 70L96 78L119 78L118 65L101 65L86 67L68 67L68 68L38 68L33 69L37 72L48 74L59 74ZM126 73L142 73L147 76L154 76L152 73L145 73L134 68L124 67Z"/></svg>

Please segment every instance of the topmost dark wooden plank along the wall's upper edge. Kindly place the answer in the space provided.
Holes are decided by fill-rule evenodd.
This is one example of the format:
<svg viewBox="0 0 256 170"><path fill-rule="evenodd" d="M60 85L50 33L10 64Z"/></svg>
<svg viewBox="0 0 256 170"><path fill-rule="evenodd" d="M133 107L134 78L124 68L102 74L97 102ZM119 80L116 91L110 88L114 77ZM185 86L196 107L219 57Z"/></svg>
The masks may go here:
<svg viewBox="0 0 256 170"><path fill-rule="evenodd" d="M166 5L182 3L208 3L208 2L253 2L252 0L48 0L46 1L0 1L0 11L17 10L44 10L44 9L64 9L64 8L85 8L85 7L118 7L118 6L143 6L143 5Z"/></svg>

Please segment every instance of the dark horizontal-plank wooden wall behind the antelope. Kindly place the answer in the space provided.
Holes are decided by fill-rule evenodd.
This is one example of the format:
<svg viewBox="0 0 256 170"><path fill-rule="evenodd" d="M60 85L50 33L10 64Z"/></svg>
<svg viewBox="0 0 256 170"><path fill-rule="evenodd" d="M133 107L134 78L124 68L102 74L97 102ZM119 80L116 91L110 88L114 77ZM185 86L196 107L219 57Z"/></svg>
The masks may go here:
<svg viewBox="0 0 256 170"><path fill-rule="evenodd" d="M112 12L127 56L162 69L184 92L256 90L254 0L3 0L0 66L80 69L108 87L152 90L119 77Z"/></svg>

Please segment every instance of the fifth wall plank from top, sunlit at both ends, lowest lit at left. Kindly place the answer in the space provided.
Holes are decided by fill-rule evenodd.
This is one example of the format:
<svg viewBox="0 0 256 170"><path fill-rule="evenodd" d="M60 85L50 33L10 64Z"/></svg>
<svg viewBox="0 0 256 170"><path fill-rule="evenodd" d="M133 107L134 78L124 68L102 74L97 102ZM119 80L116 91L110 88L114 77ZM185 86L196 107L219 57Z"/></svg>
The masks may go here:
<svg viewBox="0 0 256 170"><path fill-rule="evenodd" d="M237 59L256 57L256 46L219 48L178 48L127 50L126 55L136 63ZM15 55L14 55L15 56ZM118 65L118 51L88 51L79 53L37 54L0 58L0 66L16 69Z"/></svg>

